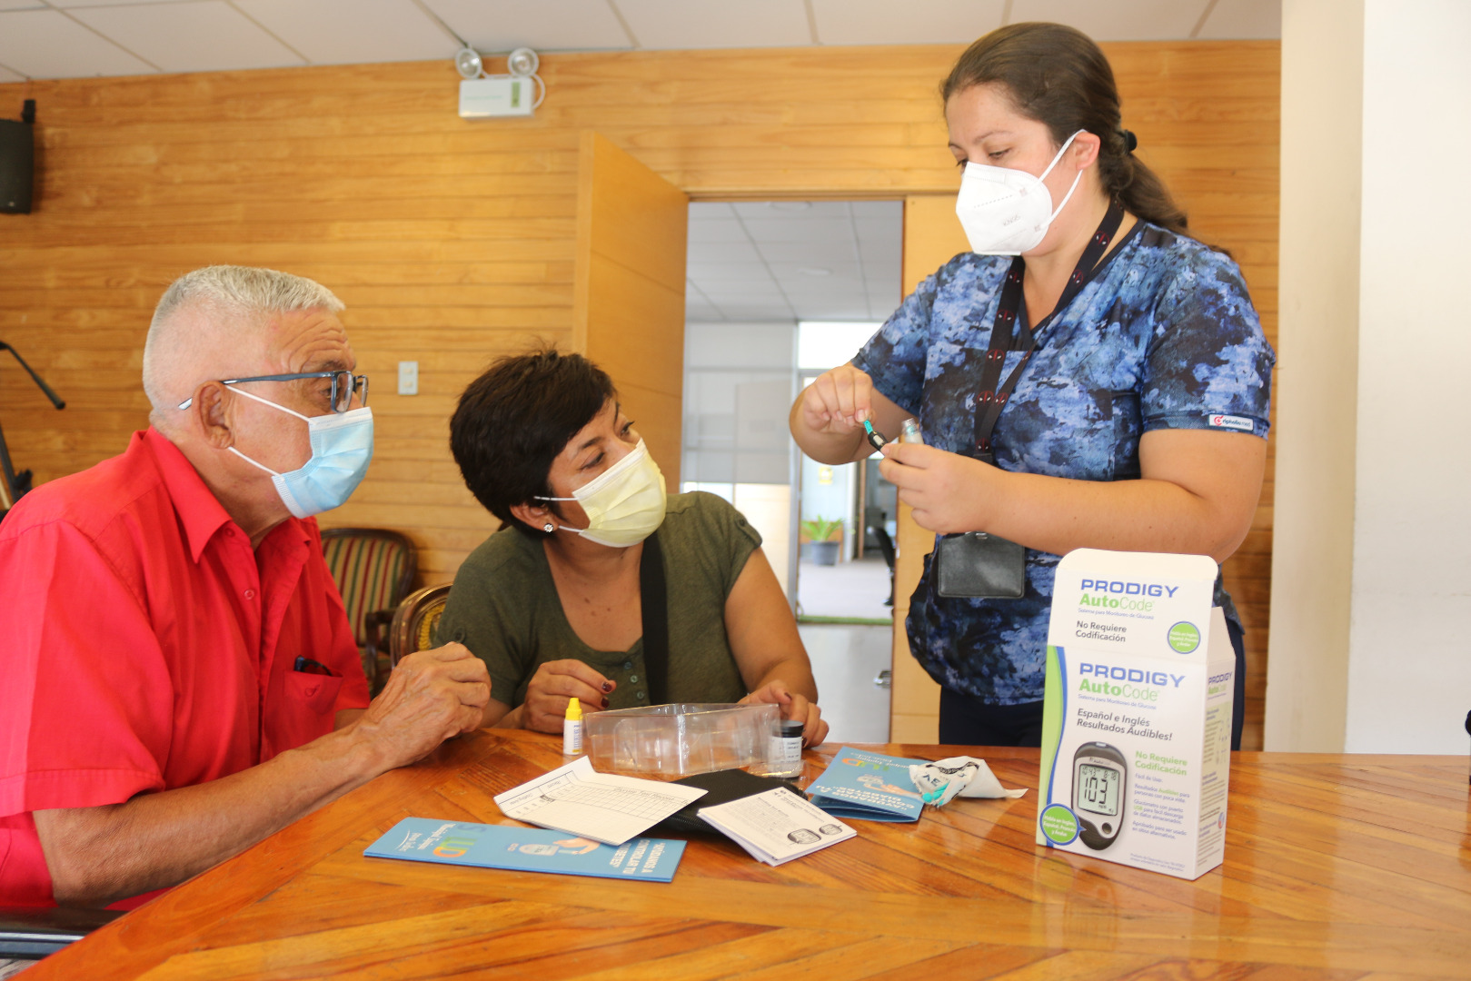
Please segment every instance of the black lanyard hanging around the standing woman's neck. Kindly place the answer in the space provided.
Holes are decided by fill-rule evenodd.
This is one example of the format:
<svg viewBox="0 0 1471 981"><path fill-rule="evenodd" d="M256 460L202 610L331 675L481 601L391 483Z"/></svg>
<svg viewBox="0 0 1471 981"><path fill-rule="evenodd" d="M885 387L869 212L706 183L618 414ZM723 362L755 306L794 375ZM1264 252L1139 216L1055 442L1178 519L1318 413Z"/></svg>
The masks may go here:
<svg viewBox="0 0 1471 981"><path fill-rule="evenodd" d="M1002 416L1002 409L1006 407L1006 400L1011 399L1012 390L1016 388L1016 381L1021 378L1022 369L1027 368L1027 362L1031 359L1031 352L1037 347L1037 334L1056 316L1058 310L1068 309L1068 304L1078 296L1078 291L1099 271L1099 260L1108 252L1108 246L1114 241L1114 235L1122 222L1124 206L1118 200L1114 200L1109 203L1097 231L1093 232L1093 238L1089 240L1089 247L1083 250L1077 268L1068 277L1068 285L1062 290L1058 306L1036 328L1027 329L1024 327L1022 337L1019 338L1021 343L1016 347L1012 347L1012 332L1016 325L1016 312L1021 309L1021 282L1022 275L1027 272L1027 260L1021 256L1012 259L1011 269L1006 271L1006 282L1002 285L1000 302L996 304L996 322L991 324L991 340L986 352L986 363L981 368L981 390L975 396L974 454L977 459L987 463L996 462L996 454L991 452L991 432L996 429L996 421ZM1006 382L997 387L1002 378L1002 365L1006 362L1006 352L1016 349L1024 352L1021 360L1016 362L1012 374L1006 377Z"/></svg>

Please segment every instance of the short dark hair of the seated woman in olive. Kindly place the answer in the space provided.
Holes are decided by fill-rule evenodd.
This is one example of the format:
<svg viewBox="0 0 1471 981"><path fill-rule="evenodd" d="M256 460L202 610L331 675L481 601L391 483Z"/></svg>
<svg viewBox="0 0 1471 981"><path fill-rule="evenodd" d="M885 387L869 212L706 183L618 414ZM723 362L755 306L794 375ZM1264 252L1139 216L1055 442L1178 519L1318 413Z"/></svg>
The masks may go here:
<svg viewBox="0 0 1471 981"><path fill-rule="evenodd" d="M465 485L500 521L541 535L510 509L552 496L552 462L616 394L608 372L581 354L547 347L496 360L450 418L450 452Z"/></svg>

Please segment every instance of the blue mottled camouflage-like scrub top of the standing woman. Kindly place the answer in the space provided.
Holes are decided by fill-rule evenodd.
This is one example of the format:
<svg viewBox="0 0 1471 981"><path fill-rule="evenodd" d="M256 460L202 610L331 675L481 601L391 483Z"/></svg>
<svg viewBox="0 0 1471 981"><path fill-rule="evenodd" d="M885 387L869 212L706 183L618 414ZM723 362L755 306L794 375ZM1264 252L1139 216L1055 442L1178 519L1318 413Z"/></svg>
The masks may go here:
<svg viewBox="0 0 1471 981"><path fill-rule="evenodd" d="M956 256L853 359L918 416L930 446L974 454L975 396L1009 268L1006 256ZM1003 379L1021 354L1008 353ZM1039 331L991 435L996 465L1121 481L1139 478L1139 438L1150 429L1267 438L1274 362L1236 263L1137 222ZM990 704L1041 699L1058 559L1027 549L1027 594L993 600L934 594L927 556L906 621L911 652L952 691ZM1219 579L1217 602L1240 624Z"/></svg>

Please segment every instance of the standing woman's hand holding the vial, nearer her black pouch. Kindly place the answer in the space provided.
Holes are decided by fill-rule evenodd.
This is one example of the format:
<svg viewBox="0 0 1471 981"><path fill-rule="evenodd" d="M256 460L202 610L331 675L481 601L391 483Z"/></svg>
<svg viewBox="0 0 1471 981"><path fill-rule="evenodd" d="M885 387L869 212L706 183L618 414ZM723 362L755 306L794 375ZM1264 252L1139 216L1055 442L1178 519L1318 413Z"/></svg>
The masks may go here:
<svg viewBox="0 0 1471 981"><path fill-rule="evenodd" d="M996 468L924 443L888 443L878 472L913 507L915 524L949 535L990 531L986 527L989 485Z"/></svg>

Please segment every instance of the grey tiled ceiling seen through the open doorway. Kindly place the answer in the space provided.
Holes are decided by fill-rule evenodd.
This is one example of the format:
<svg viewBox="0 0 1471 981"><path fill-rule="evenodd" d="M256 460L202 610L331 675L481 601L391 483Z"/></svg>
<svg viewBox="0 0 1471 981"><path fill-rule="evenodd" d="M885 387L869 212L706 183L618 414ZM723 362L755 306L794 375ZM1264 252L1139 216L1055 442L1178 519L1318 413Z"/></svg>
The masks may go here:
<svg viewBox="0 0 1471 981"><path fill-rule="evenodd" d="M900 201L690 204L687 321L883 321L899 306Z"/></svg>

